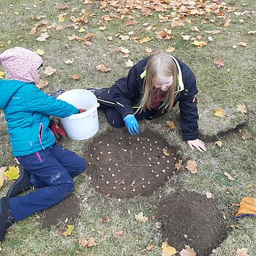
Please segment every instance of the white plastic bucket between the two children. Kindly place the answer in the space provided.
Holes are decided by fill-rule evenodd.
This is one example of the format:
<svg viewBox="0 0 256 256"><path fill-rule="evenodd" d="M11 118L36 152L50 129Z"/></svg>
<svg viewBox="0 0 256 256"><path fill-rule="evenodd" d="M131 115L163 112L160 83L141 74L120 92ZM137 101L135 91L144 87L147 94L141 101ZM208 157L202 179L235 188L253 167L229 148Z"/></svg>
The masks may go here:
<svg viewBox="0 0 256 256"><path fill-rule="evenodd" d="M58 99L83 108L86 112L61 118L67 136L73 140L86 140L94 136L99 129L97 97L88 90L74 89L65 91Z"/></svg>

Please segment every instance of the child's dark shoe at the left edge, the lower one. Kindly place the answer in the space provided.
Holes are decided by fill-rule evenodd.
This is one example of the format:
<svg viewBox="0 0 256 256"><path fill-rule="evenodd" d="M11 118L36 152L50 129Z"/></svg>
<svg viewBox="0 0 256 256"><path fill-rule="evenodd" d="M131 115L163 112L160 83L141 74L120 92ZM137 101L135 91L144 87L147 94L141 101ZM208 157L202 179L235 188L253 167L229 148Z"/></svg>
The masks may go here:
<svg viewBox="0 0 256 256"><path fill-rule="evenodd" d="M0 199L0 242L4 240L7 229L13 222L14 218L10 209L9 198L2 197Z"/></svg>

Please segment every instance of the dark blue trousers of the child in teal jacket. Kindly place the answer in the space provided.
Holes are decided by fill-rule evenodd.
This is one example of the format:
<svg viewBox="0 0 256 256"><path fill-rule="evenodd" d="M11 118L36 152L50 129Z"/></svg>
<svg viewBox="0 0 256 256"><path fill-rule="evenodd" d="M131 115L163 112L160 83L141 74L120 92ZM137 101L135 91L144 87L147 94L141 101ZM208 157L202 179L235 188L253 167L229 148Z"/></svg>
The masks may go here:
<svg viewBox="0 0 256 256"><path fill-rule="evenodd" d="M31 173L31 183L39 189L10 198L16 222L64 200L75 189L72 177L86 170L86 161L82 157L57 143L37 153L18 157L18 160Z"/></svg>

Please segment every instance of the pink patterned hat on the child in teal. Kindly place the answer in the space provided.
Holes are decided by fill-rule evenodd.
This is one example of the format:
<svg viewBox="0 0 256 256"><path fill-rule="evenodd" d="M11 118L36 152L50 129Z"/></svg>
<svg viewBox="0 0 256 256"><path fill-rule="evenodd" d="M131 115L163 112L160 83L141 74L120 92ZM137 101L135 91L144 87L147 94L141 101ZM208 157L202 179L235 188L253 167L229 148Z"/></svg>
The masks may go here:
<svg viewBox="0 0 256 256"><path fill-rule="evenodd" d="M31 83L35 80L42 58L31 50L15 47L1 53L0 62L7 69L11 79Z"/></svg>

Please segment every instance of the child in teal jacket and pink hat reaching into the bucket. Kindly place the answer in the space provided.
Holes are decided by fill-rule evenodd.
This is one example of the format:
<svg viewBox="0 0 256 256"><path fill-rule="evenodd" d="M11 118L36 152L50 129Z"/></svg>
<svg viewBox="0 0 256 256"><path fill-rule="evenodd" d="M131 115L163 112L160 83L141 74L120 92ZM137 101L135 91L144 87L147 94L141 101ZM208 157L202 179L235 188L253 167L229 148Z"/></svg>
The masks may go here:
<svg viewBox="0 0 256 256"><path fill-rule="evenodd" d="M68 197L75 189L72 177L86 170L86 161L56 143L53 132L58 135L61 131L56 124L50 125L53 131L49 128L50 115L67 117L84 110L37 89L42 58L15 47L1 53L0 62L11 78L0 80L0 108L7 120L13 155L25 168L7 197L0 199L0 241L3 241L13 222ZM39 189L16 196L31 186Z"/></svg>

